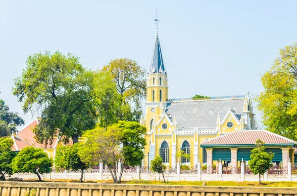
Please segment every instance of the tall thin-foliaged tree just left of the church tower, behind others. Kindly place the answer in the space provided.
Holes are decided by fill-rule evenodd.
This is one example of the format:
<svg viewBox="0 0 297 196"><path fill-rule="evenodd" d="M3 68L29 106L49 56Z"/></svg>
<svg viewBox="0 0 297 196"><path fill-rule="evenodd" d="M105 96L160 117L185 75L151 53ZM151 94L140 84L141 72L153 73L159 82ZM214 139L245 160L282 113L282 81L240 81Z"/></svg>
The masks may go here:
<svg viewBox="0 0 297 196"><path fill-rule="evenodd" d="M120 120L138 121L142 114L142 100L146 96L145 71L128 58L111 60L103 72L111 74L121 96L117 116Z"/></svg>

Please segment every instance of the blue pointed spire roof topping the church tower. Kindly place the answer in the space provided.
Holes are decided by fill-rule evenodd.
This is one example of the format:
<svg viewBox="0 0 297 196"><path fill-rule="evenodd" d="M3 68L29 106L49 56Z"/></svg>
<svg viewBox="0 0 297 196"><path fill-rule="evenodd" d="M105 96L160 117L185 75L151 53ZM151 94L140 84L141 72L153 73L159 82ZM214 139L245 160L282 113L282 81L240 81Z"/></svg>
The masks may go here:
<svg viewBox="0 0 297 196"><path fill-rule="evenodd" d="M157 27L155 45L152 53L151 65L149 69L149 74L153 74L153 73L167 74L163 63L163 56L162 56L160 40L158 36L158 27Z"/></svg>

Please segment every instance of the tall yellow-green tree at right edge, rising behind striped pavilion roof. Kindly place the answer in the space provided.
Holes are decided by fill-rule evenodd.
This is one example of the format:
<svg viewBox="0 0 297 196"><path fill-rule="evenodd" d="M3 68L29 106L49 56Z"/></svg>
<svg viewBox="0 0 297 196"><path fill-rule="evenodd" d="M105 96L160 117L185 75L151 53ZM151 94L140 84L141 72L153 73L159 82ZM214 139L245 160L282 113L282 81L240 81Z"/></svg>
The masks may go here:
<svg viewBox="0 0 297 196"><path fill-rule="evenodd" d="M264 126L297 140L297 43L280 49L261 81L264 92L256 100Z"/></svg>

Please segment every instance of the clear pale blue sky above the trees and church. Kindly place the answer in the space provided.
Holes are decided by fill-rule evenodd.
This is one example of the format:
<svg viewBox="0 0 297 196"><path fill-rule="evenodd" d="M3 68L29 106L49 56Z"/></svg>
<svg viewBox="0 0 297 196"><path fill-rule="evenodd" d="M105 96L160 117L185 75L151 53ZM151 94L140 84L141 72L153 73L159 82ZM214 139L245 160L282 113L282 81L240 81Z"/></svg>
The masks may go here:
<svg viewBox="0 0 297 196"><path fill-rule="evenodd" d="M156 9L170 98L257 95L279 48L297 40L296 7L294 0L0 0L0 99L32 121L11 88L28 55L40 51L73 53L91 69L123 57L148 69Z"/></svg>

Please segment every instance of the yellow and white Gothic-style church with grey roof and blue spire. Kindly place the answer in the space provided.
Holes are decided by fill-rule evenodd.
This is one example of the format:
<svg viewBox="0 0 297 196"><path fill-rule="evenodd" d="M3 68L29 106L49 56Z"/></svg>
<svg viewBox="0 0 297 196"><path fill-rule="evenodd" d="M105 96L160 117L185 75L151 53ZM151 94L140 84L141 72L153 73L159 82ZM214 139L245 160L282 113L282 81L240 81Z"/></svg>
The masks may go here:
<svg viewBox="0 0 297 196"><path fill-rule="evenodd" d="M148 70L145 116L147 127L144 166L156 156L168 166L206 164L200 143L226 133L257 129L250 96L169 99L168 78L163 62L158 27ZM181 151L190 156L181 156Z"/></svg>

